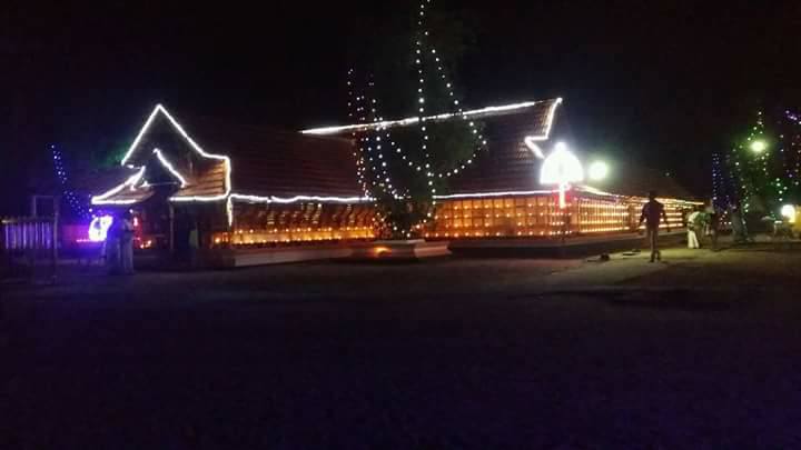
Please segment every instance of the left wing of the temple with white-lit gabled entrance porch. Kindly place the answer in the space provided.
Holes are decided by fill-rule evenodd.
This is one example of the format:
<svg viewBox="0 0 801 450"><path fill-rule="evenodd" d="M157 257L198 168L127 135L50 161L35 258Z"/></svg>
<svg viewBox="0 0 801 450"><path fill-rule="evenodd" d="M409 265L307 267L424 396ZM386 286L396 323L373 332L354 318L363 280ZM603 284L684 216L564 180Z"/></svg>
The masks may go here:
<svg viewBox="0 0 801 450"><path fill-rule="evenodd" d="M208 119L179 123L158 106L96 209L129 208L140 247L200 247L372 239L373 208L354 177L350 141Z"/></svg>

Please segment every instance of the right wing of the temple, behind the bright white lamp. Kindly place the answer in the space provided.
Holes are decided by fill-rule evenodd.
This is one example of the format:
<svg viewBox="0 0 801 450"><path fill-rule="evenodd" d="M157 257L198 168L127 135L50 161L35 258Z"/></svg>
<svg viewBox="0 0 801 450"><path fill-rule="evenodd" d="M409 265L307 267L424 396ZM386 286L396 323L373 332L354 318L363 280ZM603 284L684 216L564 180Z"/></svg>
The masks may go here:
<svg viewBox="0 0 801 450"><path fill-rule="evenodd" d="M630 232L651 190L665 204L670 222L663 227L684 227L684 212L698 203L673 178L616 163L612 176L593 180L593 167L584 168L581 161L585 156L574 154L558 139L561 107L562 99L552 99L428 118L481 120L488 148L452 177L451 192L437 197L435 221L424 237L453 241ZM417 124L412 118L304 133L345 136ZM568 187L560 186L561 176Z"/></svg>

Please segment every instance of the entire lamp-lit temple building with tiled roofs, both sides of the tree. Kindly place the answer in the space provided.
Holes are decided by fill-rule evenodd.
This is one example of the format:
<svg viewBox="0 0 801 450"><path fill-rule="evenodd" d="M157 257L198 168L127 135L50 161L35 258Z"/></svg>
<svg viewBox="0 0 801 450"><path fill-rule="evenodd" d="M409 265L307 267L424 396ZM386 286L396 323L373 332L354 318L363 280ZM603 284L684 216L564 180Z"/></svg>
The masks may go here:
<svg viewBox="0 0 801 450"><path fill-rule="evenodd" d="M592 180L592 161L558 139L562 100L441 114L481 120L487 148L457 168L436 198L429 240L545 240L631 232L650 190L670 226L683 227L692 196L663 173L613 168ZM354 133L419 119L301 132L174 117L157 106L122 160L126 173L97 192L97 211L130 209L141 249L181 252L303 243L339 246L376 237L374 208L357 177Z"/></svg>

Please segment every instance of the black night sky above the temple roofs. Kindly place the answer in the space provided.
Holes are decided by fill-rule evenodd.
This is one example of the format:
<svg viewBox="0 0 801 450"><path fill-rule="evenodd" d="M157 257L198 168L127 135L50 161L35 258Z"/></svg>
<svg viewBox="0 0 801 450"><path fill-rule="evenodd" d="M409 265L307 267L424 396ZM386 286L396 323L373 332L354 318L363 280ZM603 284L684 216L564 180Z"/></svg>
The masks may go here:
<svg viewBox="0 0 801 450"><path fill-rule="evenodd" d="M342 122L347 42L376 32L366 19L416 7L199 3L3 2L3 193L36 177L46 142L128 142L157 101L243 122ZM449 3L477 24L457 87L468 106L564 97L575 144L671 170L699 193L744 114L801 104L798 1Z"/></svg>

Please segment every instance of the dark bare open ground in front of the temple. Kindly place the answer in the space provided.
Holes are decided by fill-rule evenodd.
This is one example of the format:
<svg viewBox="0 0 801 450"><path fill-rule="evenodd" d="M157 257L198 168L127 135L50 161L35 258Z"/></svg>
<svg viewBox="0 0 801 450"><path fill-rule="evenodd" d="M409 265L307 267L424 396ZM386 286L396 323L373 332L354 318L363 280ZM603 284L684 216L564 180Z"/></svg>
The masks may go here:
<svg viewBox="0 0 801 450"><path fill-rule="evenodd" d="M2 448L801 447L801 252L3 292Z"/></svg>

